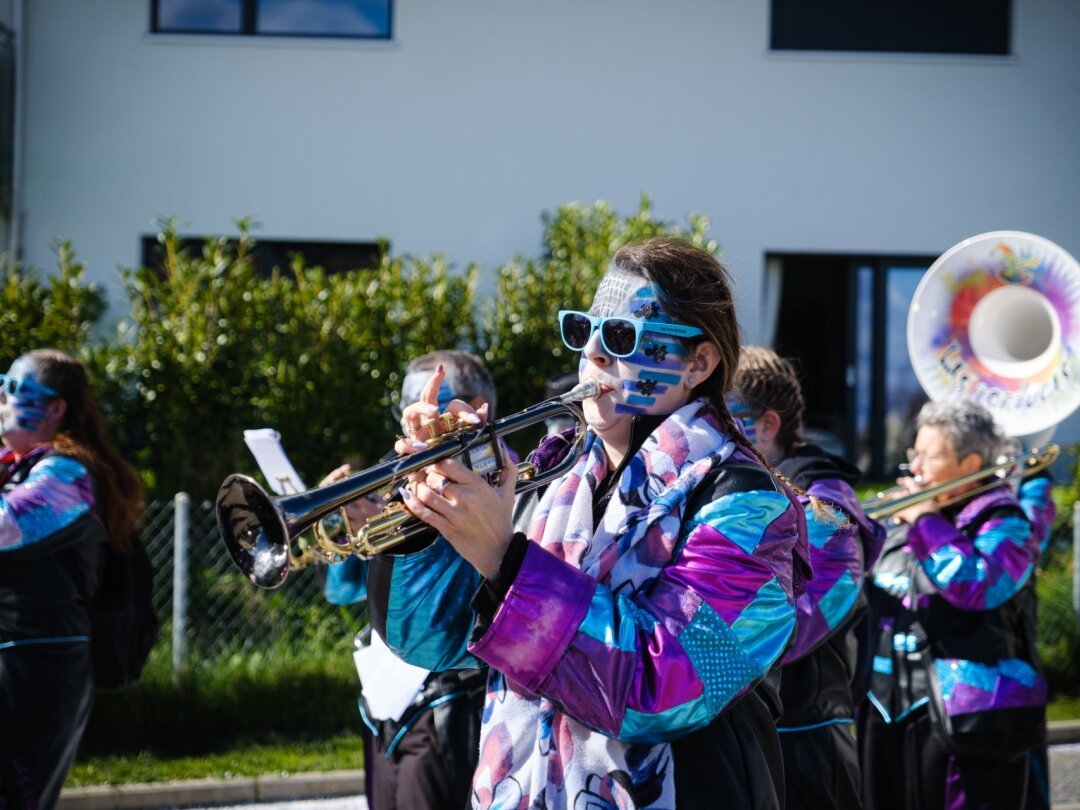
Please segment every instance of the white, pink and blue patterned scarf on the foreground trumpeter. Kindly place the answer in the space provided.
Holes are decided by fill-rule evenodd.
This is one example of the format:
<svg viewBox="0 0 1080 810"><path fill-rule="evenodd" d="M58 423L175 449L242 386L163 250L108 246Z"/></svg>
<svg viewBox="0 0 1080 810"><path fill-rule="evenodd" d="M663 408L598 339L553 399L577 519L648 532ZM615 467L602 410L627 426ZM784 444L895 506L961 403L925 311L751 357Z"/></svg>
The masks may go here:
<svg viewBox="0 0 1080 810"><path fill-rule="evenodd" d="M687 498L733 451L705 400L665 419L627 462L600 519L596 491L607 475L603 443L590 434L573 469L544 492L529 540L632 597L678 550ZM551 701L492 672L474 798L482 808L633 808L632 782L675 807L671 746L630 745L564 714Z"/></svg>

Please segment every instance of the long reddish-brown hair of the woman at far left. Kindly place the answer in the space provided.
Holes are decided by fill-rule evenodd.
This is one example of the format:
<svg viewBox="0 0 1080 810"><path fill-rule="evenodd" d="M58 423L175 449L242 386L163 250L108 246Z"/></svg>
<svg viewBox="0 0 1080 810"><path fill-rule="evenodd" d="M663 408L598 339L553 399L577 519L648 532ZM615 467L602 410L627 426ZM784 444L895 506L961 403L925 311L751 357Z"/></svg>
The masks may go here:
<svg viewBox="0 0 1080 810"><path fill-rule="evenodd" d="M117 551L127 551L143 511L143 484L109 441L86 369L57 349L35 349L25 356L33 361L41 382L67 403L53 447L78 459L90 471L109 543Z"/></svg>

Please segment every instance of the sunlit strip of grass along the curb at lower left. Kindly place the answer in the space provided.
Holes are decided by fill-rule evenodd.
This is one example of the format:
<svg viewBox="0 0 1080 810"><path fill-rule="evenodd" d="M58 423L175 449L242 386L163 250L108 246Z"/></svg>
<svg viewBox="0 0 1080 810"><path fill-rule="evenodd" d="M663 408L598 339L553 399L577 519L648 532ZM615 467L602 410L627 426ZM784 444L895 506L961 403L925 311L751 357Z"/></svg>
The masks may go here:
<svg viewBox="0 0 1080 810"><path fill-rule="evenodd" d="M350 770L364 767L363 753L360 735L343 733L327 740L241 741L228 751L201 756L173 758L143 751L131 756L80 757L66 786Z"/></svg>

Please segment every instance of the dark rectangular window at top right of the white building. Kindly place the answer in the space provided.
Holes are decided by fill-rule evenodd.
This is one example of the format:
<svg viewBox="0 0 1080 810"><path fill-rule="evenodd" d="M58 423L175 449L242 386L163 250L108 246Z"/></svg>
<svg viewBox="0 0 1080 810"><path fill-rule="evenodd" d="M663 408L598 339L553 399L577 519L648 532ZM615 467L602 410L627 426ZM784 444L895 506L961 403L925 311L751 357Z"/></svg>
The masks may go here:
<svg viewBox="0 0 1080 810"><path fill-rule="evenodd" d="M1010 53L1011 0L772 0L774 51Z"/></svg>

